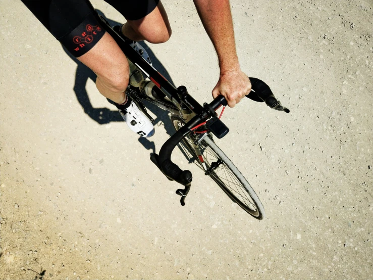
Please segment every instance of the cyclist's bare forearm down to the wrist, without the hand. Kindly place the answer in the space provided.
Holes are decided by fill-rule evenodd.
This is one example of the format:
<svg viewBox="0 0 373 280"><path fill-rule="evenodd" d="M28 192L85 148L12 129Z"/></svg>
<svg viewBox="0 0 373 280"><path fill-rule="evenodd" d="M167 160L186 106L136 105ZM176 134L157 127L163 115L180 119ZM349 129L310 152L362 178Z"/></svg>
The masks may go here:
<svg viewBox="0 0 373 280"><path fill-rule="evenodd" d="M240 69L228 0L193 0L204 29L218 54L221 73Z"/></svg>

